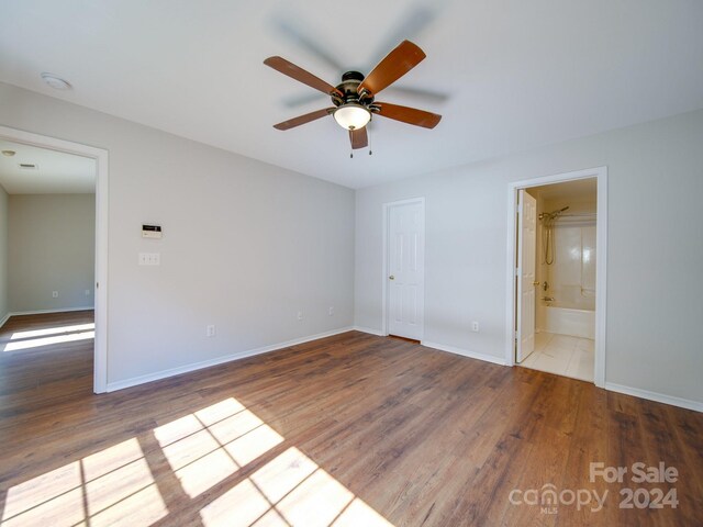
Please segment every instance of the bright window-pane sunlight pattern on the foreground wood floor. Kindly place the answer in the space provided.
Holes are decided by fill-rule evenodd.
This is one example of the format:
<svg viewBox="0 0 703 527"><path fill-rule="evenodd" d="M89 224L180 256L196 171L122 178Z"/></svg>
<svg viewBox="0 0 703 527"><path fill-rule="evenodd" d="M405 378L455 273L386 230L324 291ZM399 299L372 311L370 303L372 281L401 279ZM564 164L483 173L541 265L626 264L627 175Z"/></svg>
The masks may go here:
<svg viewBox="0 0 703 527"><path fill-rule="evenodd" d="M147 452L160 449L190 498L202 498L205 491L284 441L233 397L146 435L156 439L148 444ZM169 511L149 469L153 461L144 455L143 440L144 436L129 439L12 486L0 526L136 527L167 518ZM293 446L212 496L200 509L205 527L392 527Z"/></svg>

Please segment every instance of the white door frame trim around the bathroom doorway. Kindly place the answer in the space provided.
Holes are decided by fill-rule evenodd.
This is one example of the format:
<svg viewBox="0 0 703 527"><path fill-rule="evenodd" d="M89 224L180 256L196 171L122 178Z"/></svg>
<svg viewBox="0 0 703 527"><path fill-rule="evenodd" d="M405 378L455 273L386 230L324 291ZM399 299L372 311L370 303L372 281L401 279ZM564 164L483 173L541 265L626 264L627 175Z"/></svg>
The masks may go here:
<svg viewBox="0 0 703 527"><path fill-rule="evenodd" d="M605 386L605 323L607 300L607 167L595 167L571 172L556 173L540 178L513 181L507 184L507 261L505 272L505 365L515 366L515 321L516 295L515 276L517 261L517 190L543 184L577 181L595 178L598 181L598 204L595 218L595 365L594 383Z"/></svg>

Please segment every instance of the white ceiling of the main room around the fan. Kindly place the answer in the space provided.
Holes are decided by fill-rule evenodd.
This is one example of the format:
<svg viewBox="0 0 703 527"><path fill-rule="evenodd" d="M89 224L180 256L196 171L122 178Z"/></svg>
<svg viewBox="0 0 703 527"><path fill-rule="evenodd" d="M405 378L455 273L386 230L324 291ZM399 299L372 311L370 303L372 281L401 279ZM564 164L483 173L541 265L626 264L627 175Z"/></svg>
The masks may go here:
<svg viewBox="0 0 703 527"><path fill-rule="evenodd" d="M23 0L1 14L2 81L352 188L703 108L695 0ZM330 101L266 57L334 85L402 38L427 58L397 86L447 98L378 100L442 113L435 130L376 117L373 155L354 159L332 117L274 130Z"/></svg>

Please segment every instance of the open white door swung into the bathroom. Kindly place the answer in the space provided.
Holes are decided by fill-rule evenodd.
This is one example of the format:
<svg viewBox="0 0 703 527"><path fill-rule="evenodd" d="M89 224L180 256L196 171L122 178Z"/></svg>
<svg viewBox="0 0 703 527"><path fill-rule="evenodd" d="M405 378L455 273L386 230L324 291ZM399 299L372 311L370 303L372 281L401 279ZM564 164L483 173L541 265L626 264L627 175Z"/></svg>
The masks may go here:
<svg viewBox="0 0 703 527"><path fill-rule="evenodd" d="M535 350L535 247L537 245L537 200L518 191L517 205L517 338L515 361Z"/></svg>

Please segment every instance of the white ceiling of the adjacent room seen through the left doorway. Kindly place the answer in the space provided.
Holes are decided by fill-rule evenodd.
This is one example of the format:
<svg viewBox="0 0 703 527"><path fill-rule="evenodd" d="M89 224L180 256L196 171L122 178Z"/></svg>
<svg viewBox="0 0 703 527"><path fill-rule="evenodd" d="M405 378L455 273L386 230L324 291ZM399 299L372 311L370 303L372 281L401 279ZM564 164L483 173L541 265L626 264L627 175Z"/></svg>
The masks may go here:
<svg viewBox="0 0 703 527"><path fill-rule="evenodd" d="M0 139L0 186L8 194L92 194L96 161L87 157ZM20 164L36 165L22 169Z"/></svg>

